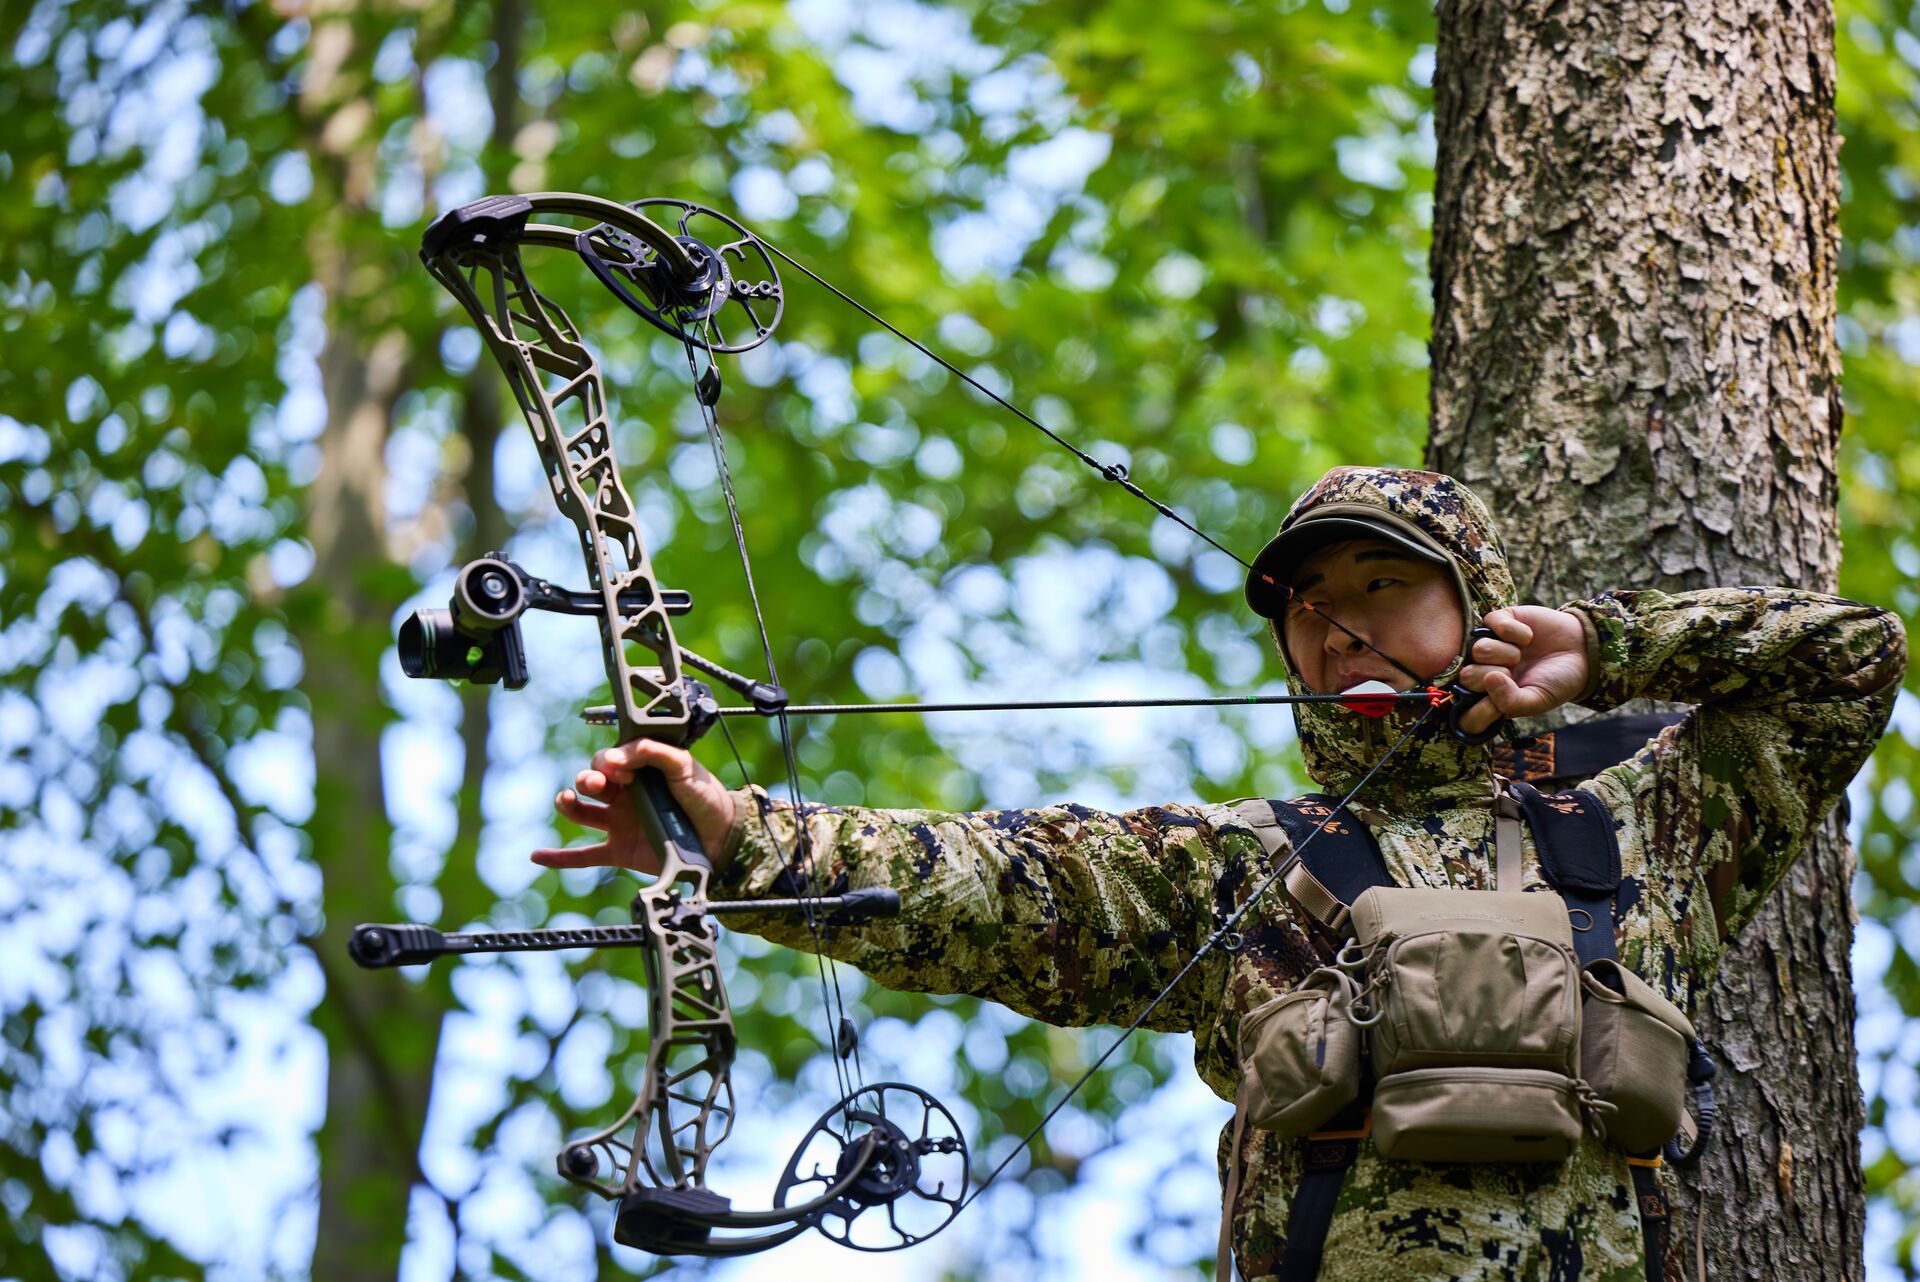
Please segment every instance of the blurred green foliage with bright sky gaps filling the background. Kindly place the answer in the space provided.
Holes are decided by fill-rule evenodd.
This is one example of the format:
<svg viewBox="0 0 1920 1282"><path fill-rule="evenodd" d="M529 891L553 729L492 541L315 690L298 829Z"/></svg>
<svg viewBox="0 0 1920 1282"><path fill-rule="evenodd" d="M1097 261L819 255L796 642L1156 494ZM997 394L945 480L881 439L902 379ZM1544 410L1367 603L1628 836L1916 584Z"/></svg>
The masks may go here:
<svg viewBox="0 0 1920 1282"><path fill-rule="evenodd" d="M15 192L0 209L0 1276L303 1272L315 1180L351 1176L307 1155L319 1075L353 1054L301 1027L324 1000L303 940L342 912L311 839L315 718L357 718L380 745L392 885L376 890L396 917L620 915L614 887L532 877L522 860L595 747L574 722L599 679L591 633L530 628L534 685L492 702L488 825L468 835L478 877L447 858L459 702L401 681L384 643L401 610L444 603L476 551L461 416L482 355L413 249L434 213L484 194L482 173L735 211L1227 547L1258 547L1334 463L1419 461L1425 6L536 4L507 52L518 125L505 154L488 142L493 31L493 6L445 0L0 13L0 177ZM1843 589L1912 624L1920 12L1845 0L1837 52ZM315 282L334 259L355 271L326 297ZM682 639L756 670L682 355L578 263L528 265L601 351L657 566L699 601ZM726 367L720 413L797 695L1277 677L1227 557L791 273L787 299L780 342ZM397 334L409 351L409 390L363 461L384 476L365 593L394 616L353 620L346 641L384 674L384 708L303 689L292 639L340 608L313 589L303 539L328 324L369 344ZM509 551L578 583L572 528L524 428L501 441ZM1912 1272L1910 704L1901 725L1855 793L1859 983L1870 1251ZM833 802L1123 804L1284 791L1298 783L1288 737L1284 718L1246 712L1137 729L816 720L799 754L806 793ZM770 737L737 739L749 775L778 779ZM724 745L707 747L733 770ZM816 998L793 954L737 952L743 1075L758 1086L745 1107L797 1134L829 1077ZM476 963L432 981L455 1015L407 1224L422 1276L455 1261L507 1278L551 1276L555 1261L651 1267L595 1247L603 1209L584 1213L549 1175L559 1128L628 1090L620 1065L637 1063L645 1023L630 962ZM876 1052L954 1052L939 1094L964 1102L991 1159L1108 1036L973 1002L860 998ZM1171 1040L1129 1044L1039 1146L1035 1173L972 1213L995 1230L958 1234L947 1267L972 1276L1033 1253L1062 1269L1077 1244L1048 1234L1064 1205L1048 1194L1142 1142L1129 1105L1179 1059ZM1167 1175L1125 1209L1129 1249L1188 1267L1212 1249L1212 1136L1160 1134L1146 1151ZM1192 1167L1179 1180L1177 1161ZM1177 1182L1204 1196L1183 1201Z"/></svg>

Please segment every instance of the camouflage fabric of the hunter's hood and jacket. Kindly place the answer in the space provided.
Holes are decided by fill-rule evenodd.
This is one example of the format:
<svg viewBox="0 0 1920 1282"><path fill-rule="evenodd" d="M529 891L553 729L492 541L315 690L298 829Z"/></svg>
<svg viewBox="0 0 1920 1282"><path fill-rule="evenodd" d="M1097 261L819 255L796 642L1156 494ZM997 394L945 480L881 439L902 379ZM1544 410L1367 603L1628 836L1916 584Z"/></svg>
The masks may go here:
<svg viewBox="0 0 1920 1282"><path fill-rule="evenodd" d="M1511 603L1486 509L1457 482L1338 468L1294 514L1319 503L1373 505L1432 534L1459 560L1475 616ZM1905 635L1884 610L1786 589L1615 591L1565 608L1588 626L1584 706L1695 706L1588 785L1613 814L1626 871L1620 962L1692 1011L1722 940L1753 917L1885 729ZM1288 677L1300 689L1290 664ZM1342 795L1413 716L1296 708L1309 772ZM1490 750L1432 733L1402 748L1354 810L1402 885L1492 889L1490 791ZM739 796L745 818L716 894L791 892L781 850L793 850L801 816L756 789ZM1265 869L1260 841L1225 802L1129 814L806 806L804 823L826 889L895 887L904 900L897 919L835 933L833 956L893 988L970 992L1056 1025L1131 1021ZM1546 890L1530 833L1524 879ZM791 921L737 921L808 946ZM1210 954L1148 1025L1190 1031L1200 1075L1223 1100L1240 1015L1329 960L1279 889L1242 933L1240 952ZM1271 1278L1302 1144L1250 1128L1244 1163L1235 1259L1244 1278ZM1363 1142L1319 1276L1642 1282L1640 1253L1628 1167L1603 1144L1586 1140L1561 1165L1425 1165L1384 1161Z"/></svg>

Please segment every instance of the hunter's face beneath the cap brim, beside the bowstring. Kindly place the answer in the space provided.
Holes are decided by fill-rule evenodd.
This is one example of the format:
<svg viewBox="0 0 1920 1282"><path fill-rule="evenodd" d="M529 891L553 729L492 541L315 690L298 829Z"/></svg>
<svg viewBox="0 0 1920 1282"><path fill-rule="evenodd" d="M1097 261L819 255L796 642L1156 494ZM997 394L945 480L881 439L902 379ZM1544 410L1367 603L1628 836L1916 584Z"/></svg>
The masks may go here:
<svg viewBox="0 0 1920 1282"><path fill-rule="evenodd" d="M1315 695L1361 681L1413 689L1413 677L1329 626L1329 616L1421 676L1446 672L1459 658L1467 629L1448 568L1384 539L1334 543L1300 562L1281 635Z"/></svg>

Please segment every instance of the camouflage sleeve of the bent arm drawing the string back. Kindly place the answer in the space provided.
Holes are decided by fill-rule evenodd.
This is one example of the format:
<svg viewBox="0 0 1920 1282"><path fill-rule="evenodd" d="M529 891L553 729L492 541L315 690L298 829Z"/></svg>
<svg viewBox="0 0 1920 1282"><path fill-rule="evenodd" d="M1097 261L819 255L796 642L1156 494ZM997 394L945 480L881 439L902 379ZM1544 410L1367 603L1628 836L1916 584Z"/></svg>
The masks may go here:
<svg viewBox="0 0 1920 1282"><path fill-rule="evenodd" d="M1784 587L1617 591L1565 608L1590 629L1580 704L1695 704L1596 783L1638 812L1649 856L1676 877L1676 917L1730 938L1885 729L1907 670L1901 622ZM1699 921L1699 879L1713 923Z"/></svg>

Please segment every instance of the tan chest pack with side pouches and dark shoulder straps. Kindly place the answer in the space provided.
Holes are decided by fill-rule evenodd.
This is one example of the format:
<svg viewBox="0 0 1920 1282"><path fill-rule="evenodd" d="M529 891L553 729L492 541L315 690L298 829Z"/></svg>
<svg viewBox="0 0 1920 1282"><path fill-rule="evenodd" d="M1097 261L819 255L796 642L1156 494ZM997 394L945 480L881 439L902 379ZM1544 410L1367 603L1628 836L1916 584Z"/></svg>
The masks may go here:
<svg viewBox="0 0 1920 1282"><path fill-rule="evenodd" d="M1269 856L1306 850L1283 881L1334 963L1240 1021L1219 1276L1231 1276L1252 1125L1306 1138L1283 1280L1319 1274L1365 1138L1388 1161L1557 1163L1582 1134L1626 1150L1647 1276L1659 1278L1667 1203L1655 1169L1663 1146L1697 1155L1713 1065L1686 1015L1619 963L1620 852L1605 806L1586 791L1507 783L1494 802L1496 889L1455 890L1394 885L1367 825L1332 804L1236 806ZM1551 894L1521 892L1521 823ZM1690 1082L1699 1127L1686 1111Z"/></svg>

